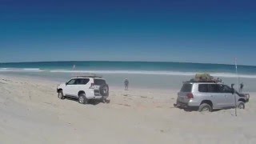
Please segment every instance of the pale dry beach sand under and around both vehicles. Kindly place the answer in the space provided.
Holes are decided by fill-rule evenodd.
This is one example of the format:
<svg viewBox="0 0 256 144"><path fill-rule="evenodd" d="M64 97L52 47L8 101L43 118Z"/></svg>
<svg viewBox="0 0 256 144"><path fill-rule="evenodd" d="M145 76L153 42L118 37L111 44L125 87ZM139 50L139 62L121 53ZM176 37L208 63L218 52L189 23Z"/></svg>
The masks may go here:
<svg viewBox="0 0 256 144"><path fill-rule="evenodd" d="M173 107L178 90L110 87L110 103L60 100L56 82L0 75L0 143L256 143L256 99L246 110Z"/></svg>

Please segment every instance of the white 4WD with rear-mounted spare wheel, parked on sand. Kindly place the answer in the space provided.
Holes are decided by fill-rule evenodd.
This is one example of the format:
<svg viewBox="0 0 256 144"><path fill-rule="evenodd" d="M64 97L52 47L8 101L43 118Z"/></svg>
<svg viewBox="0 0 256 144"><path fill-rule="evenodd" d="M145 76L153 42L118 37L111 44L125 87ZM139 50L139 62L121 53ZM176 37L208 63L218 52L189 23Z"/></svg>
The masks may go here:
<svg viewBox="0 0 256 144"><path fill-rule="evenodd" d="M96 75L78 76L57 86L58 98L77 98L79 103L86 104L90 99L106 102L109 86L106 80Z"/></svg>

